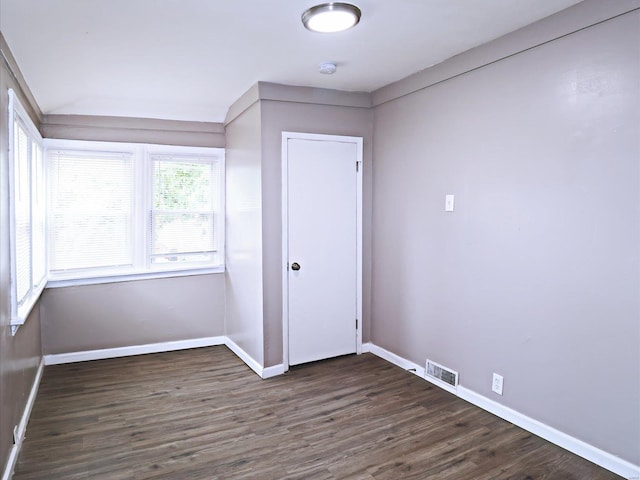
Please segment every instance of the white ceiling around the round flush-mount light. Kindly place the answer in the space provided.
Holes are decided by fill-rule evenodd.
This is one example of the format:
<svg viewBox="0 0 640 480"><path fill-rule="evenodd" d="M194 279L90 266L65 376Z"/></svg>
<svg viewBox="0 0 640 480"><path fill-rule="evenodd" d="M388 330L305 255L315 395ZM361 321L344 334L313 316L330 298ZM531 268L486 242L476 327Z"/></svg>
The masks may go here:
<svg viewBox="0 0 640 480"><path fill-rule="evenodd" d="M0 0L0 30L44 113L220 122L257 81L370 92L579 1L357 0L319 34L313 0Z"/></svg>

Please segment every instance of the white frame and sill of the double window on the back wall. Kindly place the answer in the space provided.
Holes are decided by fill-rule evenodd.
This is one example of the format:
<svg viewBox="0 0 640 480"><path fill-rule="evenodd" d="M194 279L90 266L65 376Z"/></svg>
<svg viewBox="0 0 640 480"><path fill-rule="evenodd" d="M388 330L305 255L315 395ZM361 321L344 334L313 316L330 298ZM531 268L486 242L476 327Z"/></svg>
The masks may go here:
<svg viewBox="0 0 640 480"><path fill-rule="evenodd" d="M157 144L131 144L122 142L93 142L80 140L56 140L45 139L45 168L51 168L50 153L52 151L74 151L74 153L82 152L117 152L129 153L133 155L133 221L131 248L133 266L131 268L92 268L80 270L70 270L67 272L52 272L50 270L50 262L47 265L49 276L49 288L66 287L72 285L92 285L102 283L123 282L131 280L151 279L151 278L168 278L181 277L191 275L204 275L210 273L222 273L225 270L224 255L224 198L225 198L225 151L223 148L213 147L185 147L185 146L169 146ZM176 267L174 265L161 268L157 265L151 265L149 256L149 235L151 234L150 212L153 207L153 155L176 155L179 157L207 157L212 162L217 162L220 168L219 185L212 185L212 190L218 188L220 195L219 212L214 211L215 227L218 228L220 236L218 237L217 252L219 252L219 262L215 265L185 265ZM48 172L48 177L52 177ZM47 184L47 198L49 200L49 208L47 217L51 215L51 186ZM50 237L48 237L50 238ZM48 244L53 246L51 240Z"/></svg>

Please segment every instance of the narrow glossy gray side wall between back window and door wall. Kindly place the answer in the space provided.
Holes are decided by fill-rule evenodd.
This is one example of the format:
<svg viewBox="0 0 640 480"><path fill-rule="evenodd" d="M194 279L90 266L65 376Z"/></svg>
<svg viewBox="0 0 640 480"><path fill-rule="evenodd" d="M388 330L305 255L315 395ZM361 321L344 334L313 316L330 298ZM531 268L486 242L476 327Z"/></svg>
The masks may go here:
<svg viewBox="0 0 640 480"><path fill-rule="evenodd" d="M260 104L227 125L226 333L264 365Z"/></svg>

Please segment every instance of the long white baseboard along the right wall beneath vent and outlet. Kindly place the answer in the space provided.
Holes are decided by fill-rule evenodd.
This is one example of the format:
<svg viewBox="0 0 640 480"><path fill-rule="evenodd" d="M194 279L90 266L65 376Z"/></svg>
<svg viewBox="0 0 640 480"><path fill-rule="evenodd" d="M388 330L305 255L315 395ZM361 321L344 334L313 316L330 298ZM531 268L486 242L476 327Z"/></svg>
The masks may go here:
<svg viewBox="0 0 640 480"><path fill-rule="evenodd" d="M473 405L486 410L514 425L527 430L528 432L533 433L539 437L544 438L545 440L558 445L559 447L564 448L565 450L570 451L571 453L575 453L576 455L589 460L596 465L601 466L602 468L606 468L607 470L620 475L627 479L632 480L640 480L640 466L634 465L626 460L623 460L611 453L605 452L593 445L583 442L582 440L578 440L577 438L572 437L571 435L567 435L559 430L556 430L549 425L546 425L538 420L535 420L531 417L528 417L516 410L513 410L509 407L505 407L504 405L495 402L479 393L476 393L468 388L463 387L462 385L458 385L457 388L451 387L450 385L442 382L442 385L437 382L437 380L431 380L429 378L425 378L424 368L420 367L416 363L413 363L406 358L400 357L395 353L392 353L388 350L385 350L382 347L379 347L373 343L367 344L369 351L374 355L387 360L394 365L397 365L404 370L410 371L418 376L421 376L425 380L433 383L434 385L451 392L463 400L466 400ZM364 350L364 345L363 352Z"/></svg>

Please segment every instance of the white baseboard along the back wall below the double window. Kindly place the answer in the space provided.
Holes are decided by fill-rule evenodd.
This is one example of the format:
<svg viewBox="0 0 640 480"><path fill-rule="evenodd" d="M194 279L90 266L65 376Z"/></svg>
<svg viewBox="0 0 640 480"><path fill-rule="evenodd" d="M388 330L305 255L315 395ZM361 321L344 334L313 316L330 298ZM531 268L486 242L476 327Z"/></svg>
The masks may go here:
<svg viewBox="0 0 640 480"><path fill-rule="evenodd" d="M146 345L133 345L130 347L104 348L100 350L87 350L84 352L57 353L44 356L45 365L59 365L62 363L86 362L89 360L103 360L106 358L129 357L132 355L144 355L147 353L171 352L174 350L186 350L189 348L212 347L225 345L226 337L204 337L190 340L177 340L174 342L149 343Z"/></svg>

